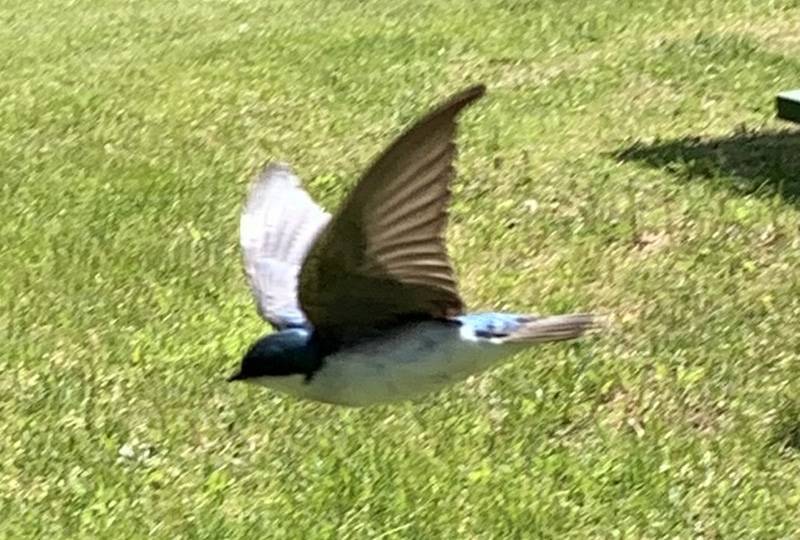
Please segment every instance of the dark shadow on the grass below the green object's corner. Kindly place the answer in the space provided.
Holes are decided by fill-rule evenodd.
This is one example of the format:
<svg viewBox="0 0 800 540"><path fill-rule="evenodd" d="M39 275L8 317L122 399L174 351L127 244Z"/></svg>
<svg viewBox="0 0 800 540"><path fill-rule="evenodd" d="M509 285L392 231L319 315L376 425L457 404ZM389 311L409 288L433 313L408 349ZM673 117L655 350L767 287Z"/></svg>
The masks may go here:
<svg viewBox="0 0 800 540"><path fill-rule="evenodd" d="M777 193L800 203L800 131L796 129L635 143L613 156L641 161L686 180L718 179L741 193Z"/></svg>

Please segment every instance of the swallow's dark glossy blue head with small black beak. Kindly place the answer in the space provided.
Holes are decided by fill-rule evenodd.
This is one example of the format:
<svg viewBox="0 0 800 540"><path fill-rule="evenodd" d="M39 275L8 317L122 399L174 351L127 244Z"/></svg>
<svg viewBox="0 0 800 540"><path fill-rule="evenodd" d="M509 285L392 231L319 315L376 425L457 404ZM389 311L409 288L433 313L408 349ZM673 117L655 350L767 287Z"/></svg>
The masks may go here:
<svg viewBox="0 0 800 540"><path fill-rule="evenodd" d="M282 330L253 343L242 358L239 371L228 381L263 382L265 378L310 376L320 362L307 330Z"/></svg>

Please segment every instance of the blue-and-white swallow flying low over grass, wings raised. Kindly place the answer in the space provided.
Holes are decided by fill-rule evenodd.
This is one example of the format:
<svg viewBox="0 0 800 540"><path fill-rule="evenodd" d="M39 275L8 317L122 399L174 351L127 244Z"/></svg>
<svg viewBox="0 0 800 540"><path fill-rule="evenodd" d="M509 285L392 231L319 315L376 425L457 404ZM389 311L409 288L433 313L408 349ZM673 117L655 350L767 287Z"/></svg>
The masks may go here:
<svg viewBox="0 0 800 540"><path fill-rule="evenodd" d="M288 166L258 174L240 243L258 312L275 331L229 380L340 405L407 400L594 327L590 314L464 309L444 231L456 119L485 91L472 86L412 125L333 216Z"/></svg>

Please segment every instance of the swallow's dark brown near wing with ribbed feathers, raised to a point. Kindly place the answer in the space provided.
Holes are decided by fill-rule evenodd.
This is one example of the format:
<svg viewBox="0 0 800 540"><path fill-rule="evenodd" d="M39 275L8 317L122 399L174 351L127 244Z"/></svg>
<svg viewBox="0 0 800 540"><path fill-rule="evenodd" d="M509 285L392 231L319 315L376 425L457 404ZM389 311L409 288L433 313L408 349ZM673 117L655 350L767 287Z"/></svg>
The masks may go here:
<svg viewBox="0 0 800 540"><path fill-rule="evenodd" d="M456 94L395 140L311 248L300 303L323 339L462 312L444 229L456 117L484 92Z"/></svg>

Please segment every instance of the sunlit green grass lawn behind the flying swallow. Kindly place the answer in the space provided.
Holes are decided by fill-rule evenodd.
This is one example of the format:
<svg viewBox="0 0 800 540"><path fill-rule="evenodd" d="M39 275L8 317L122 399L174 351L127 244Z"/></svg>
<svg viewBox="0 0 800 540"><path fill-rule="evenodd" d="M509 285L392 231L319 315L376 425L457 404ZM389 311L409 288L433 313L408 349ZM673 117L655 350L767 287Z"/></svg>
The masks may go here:
<svg viewBox="0 0 800 540"><path fill-rule="evenodd" d="M581 7L586 4L585 7ZM0 537L792 537L796 0L0 1ZM468 304L611 314L418 403L228 385L251 172L334 207L476 81Z"/></svg>

